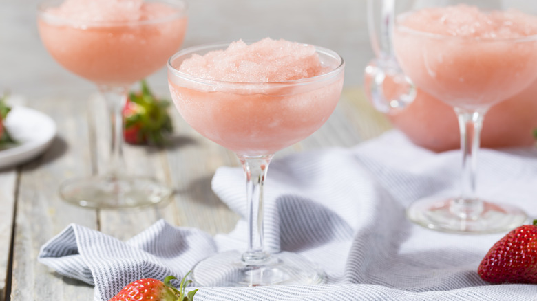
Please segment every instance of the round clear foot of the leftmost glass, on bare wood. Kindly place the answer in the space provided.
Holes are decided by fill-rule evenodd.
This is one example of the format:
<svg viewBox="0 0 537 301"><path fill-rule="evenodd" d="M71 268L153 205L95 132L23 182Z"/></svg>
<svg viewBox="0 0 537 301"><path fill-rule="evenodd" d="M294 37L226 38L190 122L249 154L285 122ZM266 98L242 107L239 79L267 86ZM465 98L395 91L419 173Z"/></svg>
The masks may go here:
<svg viewBox="0 0 537 301"><path fill-rule="evenodd" d="M96 176L70 179L59 188L63 200L89 208L135 208L171 196L171 189L148 177Z"/></svg>

